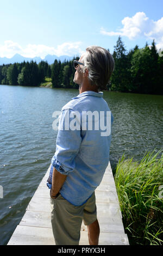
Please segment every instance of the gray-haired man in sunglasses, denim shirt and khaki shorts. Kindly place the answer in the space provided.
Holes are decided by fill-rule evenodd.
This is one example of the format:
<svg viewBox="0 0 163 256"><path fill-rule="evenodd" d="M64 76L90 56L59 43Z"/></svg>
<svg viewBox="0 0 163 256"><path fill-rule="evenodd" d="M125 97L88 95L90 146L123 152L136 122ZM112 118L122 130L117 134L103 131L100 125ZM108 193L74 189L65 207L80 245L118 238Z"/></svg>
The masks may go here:
<svg viewBox="0 0 163 256"><path fill-rule="evenodd" d="M79 84L79 95L61 109L56 151L47 180L51 188L51 222L56 245L79 245L82 221L87 225L90 245L98 245L95 190L108 166L111 143L111 133L102 133L98 119L101 113L108 118L109 113L110 119L106 120L110 121L105 127L111 128L113 122L103 92L99 90L106 88L114 65L111 54L98 46L86 48L79 61L74 60L73 81ZM94 120L83 118L88 111L96 114ZM78 129L65 129L67 120L70 125L74 115ZM97 121L100 121L99 129ZM89 125L96 129L89 129Z"/></svg>

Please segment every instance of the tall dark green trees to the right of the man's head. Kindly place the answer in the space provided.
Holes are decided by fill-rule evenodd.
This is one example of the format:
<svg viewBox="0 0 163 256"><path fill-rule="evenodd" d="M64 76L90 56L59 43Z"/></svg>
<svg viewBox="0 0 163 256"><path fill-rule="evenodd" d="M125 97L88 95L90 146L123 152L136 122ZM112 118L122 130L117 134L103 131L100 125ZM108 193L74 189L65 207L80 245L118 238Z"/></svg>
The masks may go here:
<svg viewBox="0 0 163 256"><path fill-rule="evenodd" d="M155 42L152 47L142 49L136 45L125 54L124 44L119 36L112 56L115 70L111 76L111 90L146 94L163 94L163 58L156 52Z"/></svg>

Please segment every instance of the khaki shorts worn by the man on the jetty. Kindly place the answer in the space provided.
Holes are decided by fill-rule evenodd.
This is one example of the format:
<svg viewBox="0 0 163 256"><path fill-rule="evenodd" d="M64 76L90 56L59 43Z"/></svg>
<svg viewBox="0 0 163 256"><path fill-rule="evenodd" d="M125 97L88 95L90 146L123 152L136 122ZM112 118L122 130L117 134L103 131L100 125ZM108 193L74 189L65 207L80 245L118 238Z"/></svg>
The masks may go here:
<svg viewBox="0 0 163 256"><path fill-rule="evenodd" d="M82 221L90 225L97 219L95 192L80 206L68 202L59 194L51 198L51 222L55 245L79 245Z"/></svg>

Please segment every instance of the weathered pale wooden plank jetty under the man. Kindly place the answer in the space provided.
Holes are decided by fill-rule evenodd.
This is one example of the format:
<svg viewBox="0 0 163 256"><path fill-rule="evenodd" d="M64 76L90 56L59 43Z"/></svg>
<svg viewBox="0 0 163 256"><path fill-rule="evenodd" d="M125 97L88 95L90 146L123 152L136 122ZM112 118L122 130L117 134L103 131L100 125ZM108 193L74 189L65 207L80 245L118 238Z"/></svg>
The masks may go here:
<svg viewBox="0 0 163 256"><path fill-rule="evenodd" d="M49 167L50 168L50 167ZM8 245L55 245L51 225L51 205L46 181L49 168L30 200L26 212L12 234ZM114 176L110 162L101 184L96 188L99 245L129 245L124 233ZM87 227L82 223L79 245L89 245Z"/></svg>

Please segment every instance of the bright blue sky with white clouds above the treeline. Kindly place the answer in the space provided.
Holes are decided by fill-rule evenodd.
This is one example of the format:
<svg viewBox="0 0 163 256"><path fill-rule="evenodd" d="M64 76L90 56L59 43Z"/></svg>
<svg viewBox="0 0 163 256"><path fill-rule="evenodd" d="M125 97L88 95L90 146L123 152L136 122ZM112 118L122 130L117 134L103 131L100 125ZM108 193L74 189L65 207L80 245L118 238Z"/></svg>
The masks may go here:
<svg viewBox="0 0 163 256"><path fill-rule="evenodd" d="M162 0L0 0L0 57L16 53L81 56L98 45L110 53L118 36L127 52L163 48Z"/></svg>

